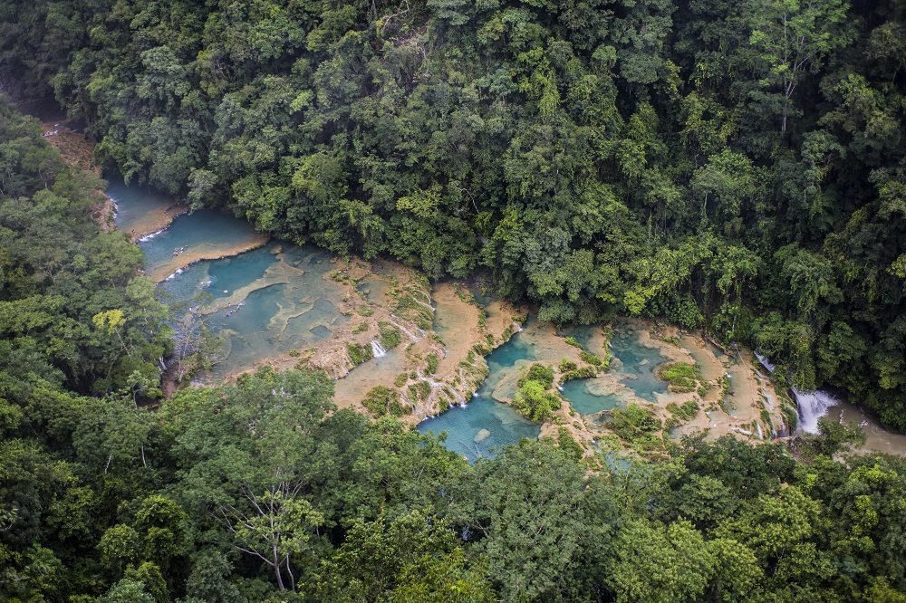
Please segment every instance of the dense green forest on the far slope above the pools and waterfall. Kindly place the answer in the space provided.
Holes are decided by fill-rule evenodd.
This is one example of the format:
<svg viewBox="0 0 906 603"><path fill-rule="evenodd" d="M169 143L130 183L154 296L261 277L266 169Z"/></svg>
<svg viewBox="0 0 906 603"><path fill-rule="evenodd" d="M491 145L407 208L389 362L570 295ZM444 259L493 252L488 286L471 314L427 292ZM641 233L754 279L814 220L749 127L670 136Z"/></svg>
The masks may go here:
<svg viewBox="0 0 906 603"><path fill-rule="evenodd" d="M706 326L906 429L906 4L3 0L0 73L130 180Z"/></svg>

